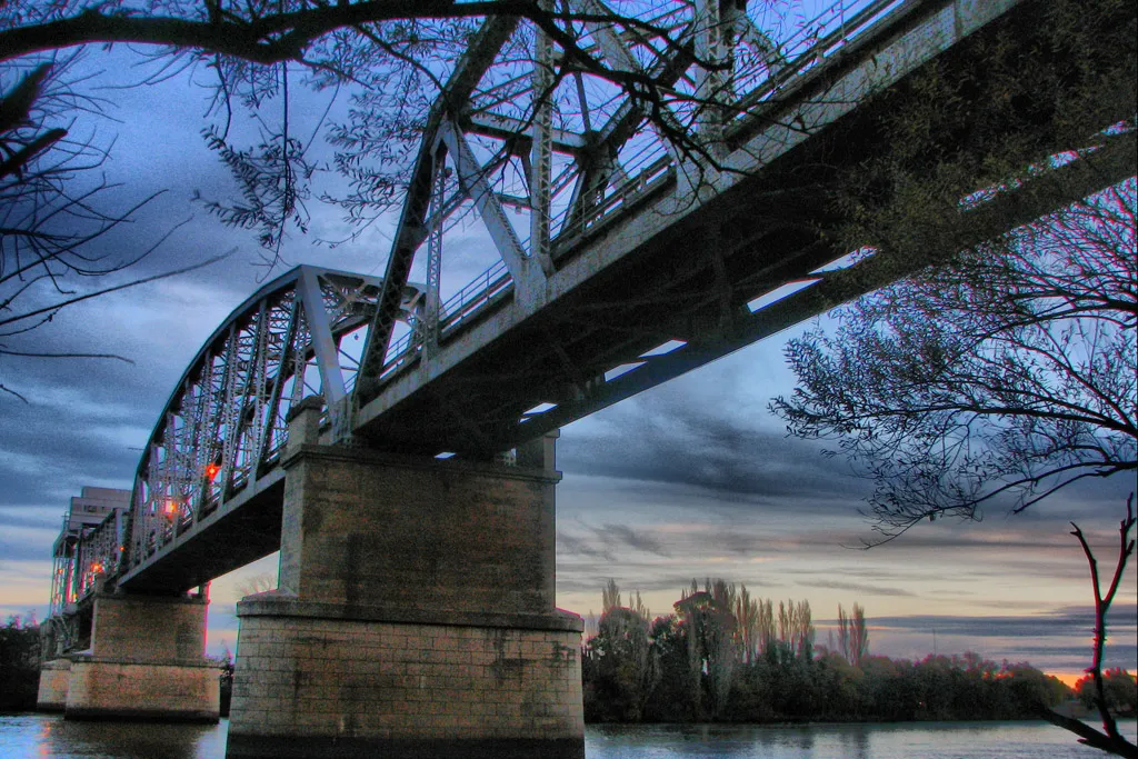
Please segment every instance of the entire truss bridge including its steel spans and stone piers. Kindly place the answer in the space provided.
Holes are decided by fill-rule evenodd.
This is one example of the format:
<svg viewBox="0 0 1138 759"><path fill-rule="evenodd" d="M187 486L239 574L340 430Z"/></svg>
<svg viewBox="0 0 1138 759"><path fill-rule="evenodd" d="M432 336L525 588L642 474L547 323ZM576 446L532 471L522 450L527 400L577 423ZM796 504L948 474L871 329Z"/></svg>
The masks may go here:
<svg viewBox="0 0 1138 759"><path fill-rule="evenodd" d="M967 244L848 255L822 190L889 148L876 124L918 97L915 74L951 76L998 35L1030 43L1047 3L847 1L789 31L657 3L667 44L597 20L599 0L569 7L577 46L666 83L671 107L554 80L553 40L488 18L431 108L384 277L300 266L250 296L174 388L129 509L57 544L69 663L46 670L44 703L215 715L154 683L208 690L190 592L279 550L280 587L238 608L231 754L582 756L580 624L553 599L556 430ZM1034 130L1023 165L1072 147L1048 117L1017 129ZM962 204L972 241L1135 174L1132 133L1092 141L1047 170L1065 196L1029 182ZM446 294L463 218L496 261ZM110 693L112 671L131 687Z"/></svg>

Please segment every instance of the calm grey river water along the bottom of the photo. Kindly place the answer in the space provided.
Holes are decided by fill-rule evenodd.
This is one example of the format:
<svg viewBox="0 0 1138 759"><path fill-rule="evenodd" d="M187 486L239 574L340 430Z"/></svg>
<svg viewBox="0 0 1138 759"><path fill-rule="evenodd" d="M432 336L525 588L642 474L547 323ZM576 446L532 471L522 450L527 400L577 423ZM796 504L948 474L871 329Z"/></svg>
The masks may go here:
<svg viewBox="0 0 1138 759"><path fill-rule="evenodd" d="M65 721L59 716L0 716L3 759L222 759L218 725ZM1135 739L1135 720L1121 724ZM893 725L591 725L588 759L1102 759L1070 733L1045 723Z"/></svg>

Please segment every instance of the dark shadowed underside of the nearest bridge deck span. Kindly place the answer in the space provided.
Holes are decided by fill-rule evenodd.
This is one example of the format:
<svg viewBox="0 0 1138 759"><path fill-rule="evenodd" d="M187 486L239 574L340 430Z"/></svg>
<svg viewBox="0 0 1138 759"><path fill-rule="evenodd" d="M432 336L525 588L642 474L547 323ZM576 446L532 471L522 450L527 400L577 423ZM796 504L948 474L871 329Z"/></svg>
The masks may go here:
<svg viewBox="0 0 1138 759"><path fill-rule="evenodd" d="M912 23L915 22L909 19L899 24L892 36L876 42L876 48L888 48L890 39L904 34ZM1005 38L1022 46L1022 50L1032 49L1040 43L1047 23L1037 3L1013 8L888 91L811 133L809 139L727 191L699 203L698 208L693 196L691 207L679 206L669 223L657 226L659 232L634 239L633 249L603 267L592 269L586 264L586 275L571 289L521 323L498 330L493 340L478 345L476 350L460 345L472 339L469 328L451 338L451 343L444 336L444 349L454 345L469 355L411 391L389 386L385 393L398 396L397 399L381 395L373 405L381 406L382 413L364 410L357 434L384 449L421 454L447 451L485 459L824 313L950 255L962 245L991 239L1131 176L1136 170L1135 139L1129 134L1114 140L1118 145L1104 151L1110 155L1102 156L1094 171L1073 180L1064 178L1064 192L1037 193L1029 189L1021 191L1020 197L1013 197L1014 193L997 197L973 214L975 223L970 238L934 240L923 261L876 270L874 262L866 262L868 265L842 272L848 274L844 278L835 277L757 313L748 307L758 296L787 282L809 279L819 266L847 253L839 247L844 221L839 200L847 191L843 182L867 157L889 154L892 146L882 124L890 116L904 113L908 104L925 97L913 83L930 67L938 67L948 77L978 82L970 91L978 121L997 125L1006 122L1005 129L1017 134L1022 165L1038 164L1054 152L1078 147L1065 142L1061 124L1050 110L1024 102L1005 117L1006 104L982 85L986 64L979 49ZM1062 51L1055 55L1061 57ZM1033 61L1031 65L1038 65L1038 58L1023 56L1024 61L1029 59ZM811 83L811 90L824 93L858 65L875 64L872 56L853 56L847 65L827 69L825 77ZM1030 74L1022 72L1023 76ZM1080 85L1070 83L1072 89ZM810 97L810 92L802 93L803 100ZM1121 101L1127 102L1124 98ZM1122 108L1102 126L1132 115ZM765 114L765 121L753 124L751 131L783 117L776 107ZM930 151L929 171L954 151L975 149L972 127L973 124L964 123L948 132L938 150ZM742 145L750 138L750 133L743 132L734 141ZM1081 168L1065 171L1074 174ZM559 272L580 266L580 259L587 261L607 239L635 238L641 229L637 216L668 207L658 199L679 191L675 184L662 185L657 189L658 198L642 199L641 211L630 214L628 221L603 228L589 239L555 248ZM495 319L495 312L486 310L483 317ZM669 340L685 345L666 356L644 360L645 352ZM635 364L641 365L619 379L605 379L613 368ZM555 404L555 407L527 414L539 404Z"/></svg>

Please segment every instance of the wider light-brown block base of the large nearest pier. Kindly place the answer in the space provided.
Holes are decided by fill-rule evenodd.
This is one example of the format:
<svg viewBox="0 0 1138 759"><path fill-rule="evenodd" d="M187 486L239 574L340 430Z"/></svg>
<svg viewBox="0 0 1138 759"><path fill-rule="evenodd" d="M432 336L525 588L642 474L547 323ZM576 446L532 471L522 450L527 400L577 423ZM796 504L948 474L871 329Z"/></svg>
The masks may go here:
<svg viewBox="0 0 1138 759"><path fill-rule="evenodd" d="M584 757L578 617L344 611L241 603L228 757Z"/></svg>

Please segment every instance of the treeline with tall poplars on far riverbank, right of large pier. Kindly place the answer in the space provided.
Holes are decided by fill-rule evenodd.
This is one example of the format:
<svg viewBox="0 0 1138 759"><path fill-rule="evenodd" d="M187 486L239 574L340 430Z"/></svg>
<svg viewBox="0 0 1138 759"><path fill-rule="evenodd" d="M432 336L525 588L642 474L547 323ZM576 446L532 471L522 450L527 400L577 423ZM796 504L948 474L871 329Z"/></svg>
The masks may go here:
<svg viewBox="0 0 1138 759"><path fill-rule="evenodd" d="M1026 663L869 655L857 604L839 608L827 645L808 602L776 607L721 579L693 580L674 608L650 620L640 594L622 605L610 580L582 659L586 721L1020 719L1072 695Z"/></svg>

